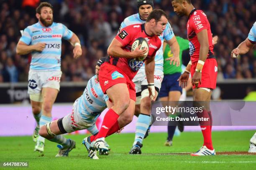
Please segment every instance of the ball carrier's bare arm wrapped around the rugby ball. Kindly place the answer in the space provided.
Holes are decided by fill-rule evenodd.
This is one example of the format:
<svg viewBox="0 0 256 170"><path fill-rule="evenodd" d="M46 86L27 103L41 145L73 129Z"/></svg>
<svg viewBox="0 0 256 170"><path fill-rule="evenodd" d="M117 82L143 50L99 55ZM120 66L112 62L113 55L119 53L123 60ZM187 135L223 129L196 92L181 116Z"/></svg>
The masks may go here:
<svg viewBox="0 0 256 170"><path fill-rule="evenodd" d="M139 45L133 52L128 52L123 50L122 47L121 42L114 38L108 47L108 55L124 58L143 57L144 53L148 50L147 48L139 50L141 47L141 45Z"/></svg>

